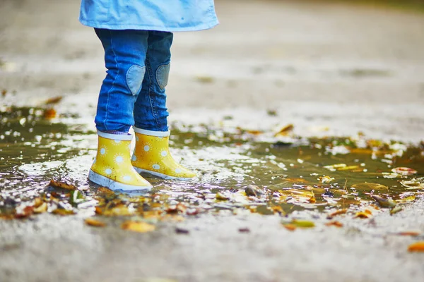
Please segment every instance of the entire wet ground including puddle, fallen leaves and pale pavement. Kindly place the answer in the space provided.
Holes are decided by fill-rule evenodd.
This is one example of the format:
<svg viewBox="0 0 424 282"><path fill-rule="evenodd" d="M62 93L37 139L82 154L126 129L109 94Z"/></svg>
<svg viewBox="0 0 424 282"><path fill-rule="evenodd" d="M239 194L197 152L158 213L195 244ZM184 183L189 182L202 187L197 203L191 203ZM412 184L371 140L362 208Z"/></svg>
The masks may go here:
<svg viewBox="0 0 424 282"><path fill-rule="evenodd" d="M86 179L104 72L78 1L1 5L0 281L422 281L422 14L218 1L167 88L198 178L122 195Z"/></svg>

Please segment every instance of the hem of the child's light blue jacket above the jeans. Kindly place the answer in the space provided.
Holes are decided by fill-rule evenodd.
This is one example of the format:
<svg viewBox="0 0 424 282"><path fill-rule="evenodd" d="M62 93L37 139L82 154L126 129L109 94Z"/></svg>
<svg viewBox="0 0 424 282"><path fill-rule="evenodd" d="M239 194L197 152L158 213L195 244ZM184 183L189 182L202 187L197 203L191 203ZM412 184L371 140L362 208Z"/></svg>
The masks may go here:
<svg viewBox="0 0 424 282"><path fill-rule="evenodd" d="M81 0L80 22L109 30L206 30L218 25L213 0Z"/></svg>

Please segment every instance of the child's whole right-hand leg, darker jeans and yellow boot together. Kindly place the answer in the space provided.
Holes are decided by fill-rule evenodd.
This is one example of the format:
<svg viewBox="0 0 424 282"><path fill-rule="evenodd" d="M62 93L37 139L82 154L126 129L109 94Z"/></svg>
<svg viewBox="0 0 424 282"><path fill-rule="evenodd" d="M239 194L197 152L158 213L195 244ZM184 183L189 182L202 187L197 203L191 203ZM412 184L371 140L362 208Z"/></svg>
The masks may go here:
<svg viewBox="0 0 424 282"><path fill-rule="evenodd" d="M165 86L170 71L172 33L149 31L146 75L134 108L136 147L132 164L139 173L189 180L196 173L172 158L169 150Z"/></svg>

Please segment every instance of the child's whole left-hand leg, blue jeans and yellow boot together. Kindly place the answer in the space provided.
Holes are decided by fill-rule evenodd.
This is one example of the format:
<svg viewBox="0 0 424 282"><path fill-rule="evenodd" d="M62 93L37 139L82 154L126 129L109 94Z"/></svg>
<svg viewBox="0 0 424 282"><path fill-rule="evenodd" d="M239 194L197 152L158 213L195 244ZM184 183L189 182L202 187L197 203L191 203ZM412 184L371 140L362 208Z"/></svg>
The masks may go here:
<svg viewBox="0 0 424 282"><path fill-rule="evenodd" d="M105 49L107 75L100 89L98 153L88 179L112 190L150 190L152 185L131 164L134 102L141 90L146 66L147 31L95 30Z"/></svg>

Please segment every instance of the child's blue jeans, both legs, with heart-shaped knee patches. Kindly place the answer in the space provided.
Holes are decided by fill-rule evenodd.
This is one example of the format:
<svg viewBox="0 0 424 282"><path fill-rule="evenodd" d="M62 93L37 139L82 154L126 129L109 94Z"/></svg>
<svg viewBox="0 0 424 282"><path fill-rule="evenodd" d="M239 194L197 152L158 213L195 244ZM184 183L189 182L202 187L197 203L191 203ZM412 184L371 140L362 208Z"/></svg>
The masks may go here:
<svg viewBox="0 0 424 282"><path fill-rule="evenodd" d="M167 131L165 86L172 32L95 28L105 49L107 75L95 116L100 131L128 132L131 125Z"/></svg>

